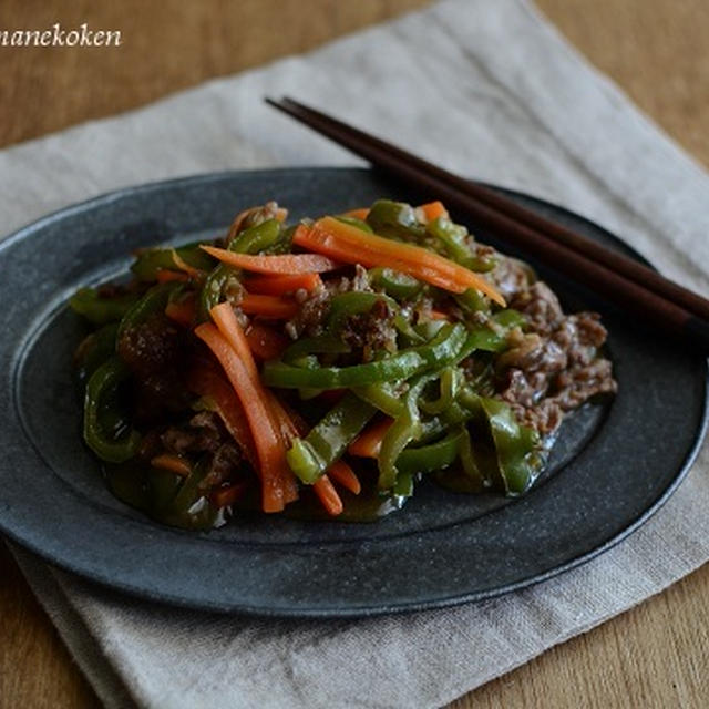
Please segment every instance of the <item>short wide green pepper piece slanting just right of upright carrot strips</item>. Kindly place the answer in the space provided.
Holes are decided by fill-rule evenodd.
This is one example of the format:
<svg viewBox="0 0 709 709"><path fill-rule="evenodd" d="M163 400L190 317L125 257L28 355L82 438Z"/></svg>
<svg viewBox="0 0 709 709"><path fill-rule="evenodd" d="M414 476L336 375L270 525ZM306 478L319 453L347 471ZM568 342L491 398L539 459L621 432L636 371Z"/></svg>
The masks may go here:
<svg viewBox="0 0 709 709"><path fill-rule="evenodd" d="M310 430L305 439L295 439L286 460L304 483L311 485L345 453L377 409L354 394L346 394Z"/></svg>

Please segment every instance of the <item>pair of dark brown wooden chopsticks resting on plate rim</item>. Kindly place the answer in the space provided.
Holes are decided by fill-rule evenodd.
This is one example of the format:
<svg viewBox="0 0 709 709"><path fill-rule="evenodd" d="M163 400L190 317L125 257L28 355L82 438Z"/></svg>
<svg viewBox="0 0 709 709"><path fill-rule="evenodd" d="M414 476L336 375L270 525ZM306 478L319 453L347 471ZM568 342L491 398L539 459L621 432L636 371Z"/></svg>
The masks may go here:
<svg viewBox="0 0 709 709"><path fill-rule="evenodd" d="M709 348L709 301L511 199L290 99L270 105L487 227L621 310Z"/></svg>

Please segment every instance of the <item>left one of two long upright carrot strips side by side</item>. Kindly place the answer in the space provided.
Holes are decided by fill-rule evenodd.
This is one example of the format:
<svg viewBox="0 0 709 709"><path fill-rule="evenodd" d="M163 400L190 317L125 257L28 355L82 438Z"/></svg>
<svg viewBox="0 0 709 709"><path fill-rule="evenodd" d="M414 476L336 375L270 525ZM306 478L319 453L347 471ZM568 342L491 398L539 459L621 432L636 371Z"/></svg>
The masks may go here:
<svg viewBox="0 0 709 709"><path fill-rule="evenodd" d="M214 325L203 322L195 328L195 335L217 358L244 407L258 455L264 512L281 512L285 506L281 475L285 450L269 407L237 353Z"/></svg>

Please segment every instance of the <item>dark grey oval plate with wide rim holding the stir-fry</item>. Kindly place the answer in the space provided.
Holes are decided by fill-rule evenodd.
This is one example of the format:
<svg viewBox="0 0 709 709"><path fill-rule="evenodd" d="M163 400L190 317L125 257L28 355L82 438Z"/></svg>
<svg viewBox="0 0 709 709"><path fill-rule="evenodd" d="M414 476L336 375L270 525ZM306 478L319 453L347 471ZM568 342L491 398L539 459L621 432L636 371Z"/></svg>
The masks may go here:
<svg viewBox="0 0 709 709"><path fill-rule="evenodd" d="M299 218L381 195L420 197L361 169L188 177L99 197L4 240L2 531L61 567L143 597L274 616L358 616L521 588L589 559L647 520L700 441L706 360L552 278L567 307L602 309L619 392L564 424L544 479L518 501L421 485L404 510L372 524L263 517L202 534L160 526L111 496L80 436L71 357L81 323L65 307L74 289L122 274L137 246L212 236L236 210L267 198ZM513 197L628 250L578 216Z"/></svg>

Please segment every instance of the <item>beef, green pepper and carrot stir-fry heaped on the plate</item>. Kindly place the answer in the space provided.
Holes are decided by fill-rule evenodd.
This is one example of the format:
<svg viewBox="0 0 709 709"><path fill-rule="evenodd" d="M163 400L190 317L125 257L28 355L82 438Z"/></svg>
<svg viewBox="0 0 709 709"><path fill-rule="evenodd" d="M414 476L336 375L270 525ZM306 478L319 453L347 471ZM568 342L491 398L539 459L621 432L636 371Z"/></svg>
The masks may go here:
<svg viewBox="0 0 709 709"><path fill-rule="evenodd" d="M564 414L615 391L606 330L439 202L135 254L71 299L83 435L112 492L166 524L400 508L424 477L520 495Z"/></svg>

